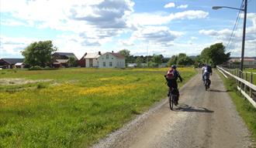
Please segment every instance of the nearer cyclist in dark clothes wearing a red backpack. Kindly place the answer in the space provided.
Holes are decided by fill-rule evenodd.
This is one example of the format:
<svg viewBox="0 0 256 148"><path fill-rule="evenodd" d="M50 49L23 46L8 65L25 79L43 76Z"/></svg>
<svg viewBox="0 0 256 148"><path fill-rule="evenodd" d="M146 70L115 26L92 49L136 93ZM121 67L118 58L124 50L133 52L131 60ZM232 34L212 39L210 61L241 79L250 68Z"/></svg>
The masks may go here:
<svg viewBox="0 0 256 148"><path fill-rule="evenodd" d="M165 76L165 79L167 80L167 85L169 87L169 90L173 88L179 97L179 92L178 92L178 83L177 79L179 79L182 82L182 76L180 76L179 72L176 70L176 66L172 65L171 69L168 70L167 75ZM168 96L170 96L170 91L168 91ZM177 103L175 105L178 105L178 98L177 98Z"/></svg>

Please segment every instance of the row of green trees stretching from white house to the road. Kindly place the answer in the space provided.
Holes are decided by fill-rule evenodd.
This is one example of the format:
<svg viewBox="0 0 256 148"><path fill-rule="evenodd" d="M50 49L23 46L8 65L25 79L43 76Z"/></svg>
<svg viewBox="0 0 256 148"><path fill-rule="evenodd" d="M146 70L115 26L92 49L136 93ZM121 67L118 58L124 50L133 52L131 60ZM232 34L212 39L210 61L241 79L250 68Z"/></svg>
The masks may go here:
<svg viewBox="0 0 256 148"><path fill-rule="evenodd" d="M137 63L138 67L142 66L142 63L147 63L147 66L150 67L157 67L161 65L161 63L167 63L167 66L200 66L203 63L207 63L215 67L230 59L230 52L225 52L225 46L222 42L210 45L203 49L200 55L191 57L185 53L172 55L171 58L164 58L163 55L133 56L130 55L130 51L127 49L119 51L121 55L126 57L126 62Z"/></svg>

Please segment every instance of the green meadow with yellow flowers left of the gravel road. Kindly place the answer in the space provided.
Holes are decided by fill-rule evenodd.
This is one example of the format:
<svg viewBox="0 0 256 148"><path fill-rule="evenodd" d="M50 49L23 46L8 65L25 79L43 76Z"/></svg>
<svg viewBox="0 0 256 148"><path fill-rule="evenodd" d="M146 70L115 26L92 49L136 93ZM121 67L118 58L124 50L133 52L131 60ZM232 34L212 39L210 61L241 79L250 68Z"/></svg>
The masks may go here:
<svg viewBox="0 0 256 148"><path fill-rule="evenodd" d="M178 70L185 82L195 75ZM0 147L90 146L163 99L166 71L2 70Z"/></svg>

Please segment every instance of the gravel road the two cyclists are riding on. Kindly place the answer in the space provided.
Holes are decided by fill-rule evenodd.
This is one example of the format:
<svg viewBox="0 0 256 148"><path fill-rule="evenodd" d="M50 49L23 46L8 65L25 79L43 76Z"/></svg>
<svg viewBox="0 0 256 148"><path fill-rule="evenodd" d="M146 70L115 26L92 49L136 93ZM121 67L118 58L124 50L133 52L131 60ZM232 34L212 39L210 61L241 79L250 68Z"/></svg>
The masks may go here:
<svg viewBox="0 0 256 148"><path fill-rule="evenodd" d="M165 99L92 147L255 147L220 76L213 73L209 91L201 79L198 74L180 89L180 102L174 111Z"/></svg>

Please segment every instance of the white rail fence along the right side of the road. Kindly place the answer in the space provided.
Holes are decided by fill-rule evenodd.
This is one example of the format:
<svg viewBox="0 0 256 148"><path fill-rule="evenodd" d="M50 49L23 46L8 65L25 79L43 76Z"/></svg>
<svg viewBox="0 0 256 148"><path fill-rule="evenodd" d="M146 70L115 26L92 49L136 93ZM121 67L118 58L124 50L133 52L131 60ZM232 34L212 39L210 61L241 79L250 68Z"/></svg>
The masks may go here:
<svg viewBox="0 0 256 148"><path fill-rule="evenodd" d="M221 66L217 66L217 69L225 76L233 77L237 82L237 90L256 108L256 86L254 82L255 72L241 72L238 69L227 69ZM249 79L248 79L249 76Z"/></svg>

